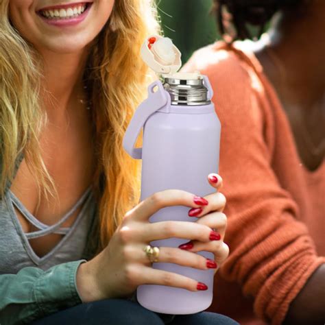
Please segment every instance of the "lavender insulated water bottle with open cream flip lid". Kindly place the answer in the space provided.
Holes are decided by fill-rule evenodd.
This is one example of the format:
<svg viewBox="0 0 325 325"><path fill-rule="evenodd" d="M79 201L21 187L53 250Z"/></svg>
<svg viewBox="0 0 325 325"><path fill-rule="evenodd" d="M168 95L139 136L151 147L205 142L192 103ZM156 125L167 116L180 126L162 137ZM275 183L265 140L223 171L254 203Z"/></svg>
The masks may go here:
<svg viewBox="0 0 325 325"><path fill-rule="evenodd" d="M200 73L178 73L180 51L169 38L149 36L141 47L149 67L164 78L148 87L148 97L134 112L123 139L123 147L135 159L142 159L141 201L165 189L181 189L205 196L215 190L209 173L219 168L221 125L211 102L213 90ZM134 147L143 128L143 146ZM188 206L168 206L150 217L150 222L196 221ZM191 239L168 238L150 245L178 248ZM213 259L211 252L197 252ZM139 303L146 309L167 314L203 311L213 299L213 269L196 269L176 263L152 263L154 269L182 274L208 286L206 291L189 291L165 285L140 285Z"/></svg>

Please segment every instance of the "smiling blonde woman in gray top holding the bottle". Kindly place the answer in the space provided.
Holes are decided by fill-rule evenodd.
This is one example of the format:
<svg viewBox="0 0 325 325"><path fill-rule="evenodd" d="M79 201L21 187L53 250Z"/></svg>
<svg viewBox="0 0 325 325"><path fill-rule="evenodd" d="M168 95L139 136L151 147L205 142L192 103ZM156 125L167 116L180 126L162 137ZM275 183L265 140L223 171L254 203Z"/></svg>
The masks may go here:
<svg viewBox="0 0 325 325"><path fill-rule="evenodd" d="M167 189L139 203L138 161L122 139L145 95L139 48L157 32L154 16L145 0L0 3L2 325L234 324L215 313L159 315L134 298L145 283L207 289L152 269L150 241L193 240L160 248L160 262L216 271L228 256L220 176L207 176L205 198ZM199 219L149 223L180 204Z"/></svg>

